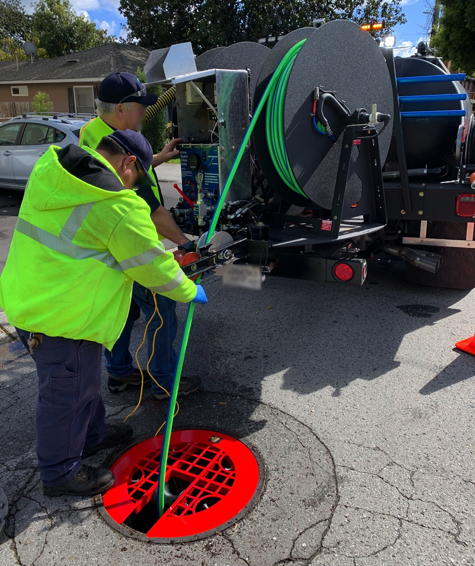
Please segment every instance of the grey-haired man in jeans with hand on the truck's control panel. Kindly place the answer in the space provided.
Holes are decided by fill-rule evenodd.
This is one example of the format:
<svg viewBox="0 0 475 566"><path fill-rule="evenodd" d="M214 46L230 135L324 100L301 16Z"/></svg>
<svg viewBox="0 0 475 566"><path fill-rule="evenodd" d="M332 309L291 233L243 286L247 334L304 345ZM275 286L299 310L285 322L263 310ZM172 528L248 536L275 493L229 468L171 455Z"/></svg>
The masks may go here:
<svg viewBox="0 0 475 566"><path fill-rule="evenodd" d="M90 120L81 128L79 145L95 149L103 136L117 130L140 130L145 118L146 106L155 104L157 97L146 92L146 88L135 75L127 72L113 72L107 75L99 85L97 93L97 111L99 116ZM178 246L187 246L191 242L178 228L170 213L163 207L163 199L155 176L154 167L169 161L179 154L175 149L180 139L172 140L160 153L153 156L149 169L154 185L140 186L137 195L143 198L150 207L151 218L157 228L158 237L168 238ZM128 385L141 385L140 371L133 366L132 355L129 352L129 342L132 327L142 310L145 319L150 323L147 327L147 346L150 363L148 370L153 376L152 393L159 400L168 398L175 366L176 352L173 348L178 320L176 318L176 302L168 297L157 296L157 307L160 316L156 314L154 298L149 289L133 284L132 302L122 335L111 351L105 350L106 370L109 375L107 383L112 392L123 391ZM163 320L163 322L162 322ZM152 355L153 353L153 355ZM145 383L150 377L145 375ZM159 387L159 384L161 387ZM197 375L182 376L178 395L189 395L201 385ZM165 391L164 391L165 389Z"/></svg>

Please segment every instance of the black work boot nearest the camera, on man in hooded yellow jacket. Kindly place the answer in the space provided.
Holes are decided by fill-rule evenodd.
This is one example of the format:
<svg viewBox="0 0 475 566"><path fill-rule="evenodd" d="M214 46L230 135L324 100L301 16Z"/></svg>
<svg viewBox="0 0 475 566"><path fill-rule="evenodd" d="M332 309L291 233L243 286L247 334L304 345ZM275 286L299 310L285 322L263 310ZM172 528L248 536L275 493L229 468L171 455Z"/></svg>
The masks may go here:
<svg viewBox="0 0 475 566"><path fill-rule="evenodd" d="M107 468L91 468L83 464L81 469L68 482L59 486L45 487L43 493L50 497L70 495L90 497L109 489L114 485L114 474Z"/></svg>

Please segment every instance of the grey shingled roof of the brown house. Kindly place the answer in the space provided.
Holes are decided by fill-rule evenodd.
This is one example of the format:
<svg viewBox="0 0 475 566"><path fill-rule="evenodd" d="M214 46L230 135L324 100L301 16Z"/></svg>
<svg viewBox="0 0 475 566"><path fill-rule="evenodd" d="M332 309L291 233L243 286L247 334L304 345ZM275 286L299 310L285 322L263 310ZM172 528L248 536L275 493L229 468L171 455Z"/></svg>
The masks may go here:
<svg viewBox="0 0 475 566"><path fill-rule="evenodd" d="M112 71L136 74L150 52L137 45L109 43L51 59L0 61L0 84L99 82Z"/></svg>

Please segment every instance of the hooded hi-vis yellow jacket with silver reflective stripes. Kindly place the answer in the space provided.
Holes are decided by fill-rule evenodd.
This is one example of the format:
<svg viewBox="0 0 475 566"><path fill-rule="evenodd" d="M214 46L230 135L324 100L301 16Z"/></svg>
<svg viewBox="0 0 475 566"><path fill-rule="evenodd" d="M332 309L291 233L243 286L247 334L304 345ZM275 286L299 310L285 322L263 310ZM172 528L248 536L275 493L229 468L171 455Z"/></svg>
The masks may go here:
<svg viewBox="0 0 475 566"><path fill-rule="evenodd" d="M159 242L143 199L74 177L58 161L60 150L51 145L29 178L0 305L16 327L110 350L127 319L133 280L182 302L195 298L196 285Z"/></svg>

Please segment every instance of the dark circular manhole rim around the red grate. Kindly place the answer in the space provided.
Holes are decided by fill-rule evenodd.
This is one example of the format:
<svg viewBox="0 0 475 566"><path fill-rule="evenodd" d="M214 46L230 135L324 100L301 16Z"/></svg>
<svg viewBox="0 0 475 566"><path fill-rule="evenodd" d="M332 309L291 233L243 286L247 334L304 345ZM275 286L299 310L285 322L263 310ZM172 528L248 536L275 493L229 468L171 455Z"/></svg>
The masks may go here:
<svg viewBox="0 0 475 566"><path fill-rule="evenodd" d="M248 513L251 512L252 508L261 499L261 496L264 493L264 487L266 481L266 466L264 463L264 458L262 458L261 453L253 444L249 443L248 441L244 441L243 435L236 434L235 432L228 431L224 428L215 428L214 430L210 430L209 428L180 427L180 428L176 428L174 432L180 432L186 430L204 430L209 432L222 433L231 436L236 440L239 440L241 443L245 445L245 447L247 447L252 452L252 455L254 456L254 458L256 458L257 468L259 470L259 479L257 482L256 491L254 491L252 498L248 501L245 507L243 507L241 511L239 511L239 513L236 513L234 517L231 517L228 521L222 523L221 525L219 525L214 529L203 531L202 533L198 533L198 534L189 535L187 537L159 538L159 537L147 537L146 534L141 533L140 531L137 531L135 529L132 529L131 527L125 526L115 521L106 511L105 505L103 504L102 501L102 494L98 494L94 496L94 504L96 505L97 511L99 512L100 516L111 528L113 528L114 530L118 531L119 533L123 534L126 537L135 538L139 541L144 541L144 542L152 542L155 544L174 544L174 543L201 541L204 538L212 537L215 534L221 533L223 530L228 529L231 525L234 525L237 521L241 521ZM118 460L121 456L123 456L123 454L128 452L131 448L133 448L137 444L140 444L145 440L149 440L150 438L151 438L150 436L142 436L140 439L137 439L136 441L128 444L127 447L124 447L120 451L110 454L110 456L103 461L102 465L106 466L107 468L110 468L110 466L112 466L116 460Z"/></svg>

